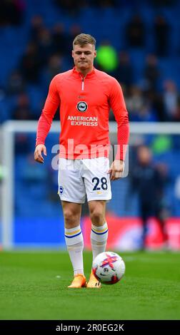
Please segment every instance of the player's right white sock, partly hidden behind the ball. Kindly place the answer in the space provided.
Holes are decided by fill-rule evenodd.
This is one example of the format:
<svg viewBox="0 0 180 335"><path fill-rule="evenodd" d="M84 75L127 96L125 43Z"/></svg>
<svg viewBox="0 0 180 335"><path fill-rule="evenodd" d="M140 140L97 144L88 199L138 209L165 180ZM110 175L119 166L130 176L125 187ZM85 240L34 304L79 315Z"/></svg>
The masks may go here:
<svg viewBox="0 0 180 335"><path fill-rule="evenodd" d="M106 242L108 238L108 226L105 222L103 226L96 227L91 225L91 248L94 258L101 252L106 250Z"/></svg>

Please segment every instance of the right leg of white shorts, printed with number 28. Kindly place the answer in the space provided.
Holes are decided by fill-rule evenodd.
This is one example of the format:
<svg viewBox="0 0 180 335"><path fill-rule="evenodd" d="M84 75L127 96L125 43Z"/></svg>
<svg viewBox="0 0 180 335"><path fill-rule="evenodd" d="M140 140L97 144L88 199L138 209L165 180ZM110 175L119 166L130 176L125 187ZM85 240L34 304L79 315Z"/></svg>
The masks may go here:
<svg viewBox="0 0 180 335"><path fill-rule="evenodd" d="M108 158L84 160L83 177L88 202L111 199L111 182L108 170Z"/></svg>

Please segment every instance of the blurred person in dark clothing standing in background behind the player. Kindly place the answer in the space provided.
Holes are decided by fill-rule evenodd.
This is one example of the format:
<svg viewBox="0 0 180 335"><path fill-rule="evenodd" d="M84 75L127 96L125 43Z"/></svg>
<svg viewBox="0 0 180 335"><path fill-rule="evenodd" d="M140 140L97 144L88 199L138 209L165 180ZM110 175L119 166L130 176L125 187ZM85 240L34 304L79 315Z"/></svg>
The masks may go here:
<svg viewBox="0 0 180 335"><path fill-rule="evenodd" d="M137 148L136 157L137 160L132 166L129 191L136 191L139 196L139 214L143 225L141 249L146 249L149 217L156 217L159 222L164 245L166 246L168 236L165 223L169 215L168 208L164 204L164 189L168 181L166 165L154 164L151 150L146 145L140 145ZM129 197L131 197L131 194Z"/></svg>

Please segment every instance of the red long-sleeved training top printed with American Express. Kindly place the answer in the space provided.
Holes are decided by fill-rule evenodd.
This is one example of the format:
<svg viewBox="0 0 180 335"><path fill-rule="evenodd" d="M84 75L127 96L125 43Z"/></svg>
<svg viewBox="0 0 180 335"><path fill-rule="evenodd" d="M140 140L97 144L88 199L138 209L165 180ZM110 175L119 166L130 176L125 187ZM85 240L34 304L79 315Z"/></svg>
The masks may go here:
<svg viewBox="0 0 180 335"><path fill-rule="evenodd" d="M115 78L96 70L81 73L72 70L56 75L39 118L36 145L44 144L57 108L60 106L60 157L108 157L109 110L118 125L119 152L116 159L124 160L129 141L129 118L121 86ZM124 145L124 148L123 148ZM98 148L98 149L97 149ZM125 150L123 150L125 149ZM79 154L82 154L81 157Z"/></svg>

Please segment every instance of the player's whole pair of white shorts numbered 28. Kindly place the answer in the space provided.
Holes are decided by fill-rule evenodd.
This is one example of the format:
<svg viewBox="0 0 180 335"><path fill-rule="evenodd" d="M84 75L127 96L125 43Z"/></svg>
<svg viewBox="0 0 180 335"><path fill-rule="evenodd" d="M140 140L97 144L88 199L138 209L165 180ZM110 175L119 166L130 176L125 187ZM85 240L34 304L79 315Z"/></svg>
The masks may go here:
<svg viewBox="0 0 180 335"><path fill-rule="evenodd" d="M109 158L66 160L59 158L58 194L61 200L83 204L110 200Z"/></svg>

